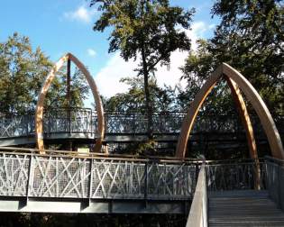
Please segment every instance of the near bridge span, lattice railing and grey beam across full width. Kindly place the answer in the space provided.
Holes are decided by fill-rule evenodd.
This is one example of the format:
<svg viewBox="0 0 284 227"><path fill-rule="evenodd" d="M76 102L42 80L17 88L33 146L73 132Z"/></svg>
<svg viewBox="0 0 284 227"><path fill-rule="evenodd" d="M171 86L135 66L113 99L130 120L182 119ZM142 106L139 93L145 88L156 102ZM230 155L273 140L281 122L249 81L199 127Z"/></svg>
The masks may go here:
<svg viewBox="0 0 284 227"><path fill-rule="evenodd" d="M203 204L194 202L202 166L208 194L264 190L284 208L283 162L277 159L139 159L0 150L0 212L186 214L192 200L191 210Z"/></svg>

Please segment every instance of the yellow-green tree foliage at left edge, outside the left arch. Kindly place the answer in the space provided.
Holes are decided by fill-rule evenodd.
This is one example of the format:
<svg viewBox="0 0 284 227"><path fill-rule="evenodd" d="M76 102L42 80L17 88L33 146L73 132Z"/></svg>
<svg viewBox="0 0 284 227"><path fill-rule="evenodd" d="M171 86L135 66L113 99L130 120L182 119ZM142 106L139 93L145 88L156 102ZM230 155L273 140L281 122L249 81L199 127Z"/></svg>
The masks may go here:
<svg viewBox="0 0 284 227"><path fill-rule="evenodd" d="M2 113L24 112L36 104L36 96L51 62L27 37L14 33L0 43L0 108Z"/></svg>

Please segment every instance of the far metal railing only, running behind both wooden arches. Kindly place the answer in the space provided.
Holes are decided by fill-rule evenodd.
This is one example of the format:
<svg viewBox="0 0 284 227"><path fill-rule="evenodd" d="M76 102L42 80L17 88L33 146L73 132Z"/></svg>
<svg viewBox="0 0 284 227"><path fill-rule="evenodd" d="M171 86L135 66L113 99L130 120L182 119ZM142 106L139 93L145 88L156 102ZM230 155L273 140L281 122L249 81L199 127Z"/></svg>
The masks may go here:
<svg viewBox="0 0 284 227"><path fill-rule="evenodd" d="M185 113L154 113L153 129L156 134L179 133ZM284 117L275 119L279 129L284 128ZM97 115L92 109L50 109L43 115L46 135L52 133L97 133ZM261 124L252 116L253 128L261 132ZM105 133L145 134L147 114L105 113ZM198 132L243 132L237 116L228 114L197 115L192 133ZM0 138L25 137L34 135L34 114L10 114L0 117Z"/></svg>

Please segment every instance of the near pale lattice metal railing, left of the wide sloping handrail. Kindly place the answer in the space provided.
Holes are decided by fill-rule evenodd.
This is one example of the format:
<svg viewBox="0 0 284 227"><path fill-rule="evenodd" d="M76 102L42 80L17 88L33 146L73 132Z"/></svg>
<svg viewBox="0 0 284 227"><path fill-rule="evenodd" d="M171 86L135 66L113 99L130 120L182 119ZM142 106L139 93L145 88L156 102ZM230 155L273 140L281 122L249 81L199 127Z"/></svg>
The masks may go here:
<svg viewBox="0 0 284 227"><path fill-rule="evenodd" d="M0 153L0 196L188 200L197 166L177 160L135 160Z"/></svg>

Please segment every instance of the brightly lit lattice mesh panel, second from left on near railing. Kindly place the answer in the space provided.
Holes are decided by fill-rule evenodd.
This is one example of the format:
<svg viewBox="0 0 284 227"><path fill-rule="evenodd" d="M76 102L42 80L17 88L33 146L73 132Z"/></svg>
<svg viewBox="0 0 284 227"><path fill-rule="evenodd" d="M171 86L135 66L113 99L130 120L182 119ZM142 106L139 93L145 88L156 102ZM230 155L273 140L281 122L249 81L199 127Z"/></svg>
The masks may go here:
<svg viewBox="0 0 284 227"><path fill-rule="evenodd" d="M87 197L89 174L89 160L86 159L35 157L30 195Z"/></svg>

